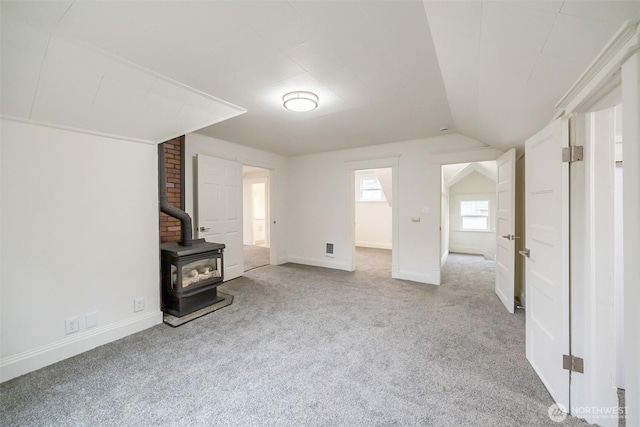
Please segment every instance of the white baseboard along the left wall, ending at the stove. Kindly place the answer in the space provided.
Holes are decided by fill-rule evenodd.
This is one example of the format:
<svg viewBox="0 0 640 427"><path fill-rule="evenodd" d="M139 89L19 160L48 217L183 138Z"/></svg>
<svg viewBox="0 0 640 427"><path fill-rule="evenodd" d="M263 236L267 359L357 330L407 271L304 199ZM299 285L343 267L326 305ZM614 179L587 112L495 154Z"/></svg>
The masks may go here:
<svg viewBox="0 0 640 427"><path fill-rule="evenodd" d="M44 368L98 346L162 323L162 312L153 311L120 322L91 328L60 341L0 359L0 382Z"/></svg>

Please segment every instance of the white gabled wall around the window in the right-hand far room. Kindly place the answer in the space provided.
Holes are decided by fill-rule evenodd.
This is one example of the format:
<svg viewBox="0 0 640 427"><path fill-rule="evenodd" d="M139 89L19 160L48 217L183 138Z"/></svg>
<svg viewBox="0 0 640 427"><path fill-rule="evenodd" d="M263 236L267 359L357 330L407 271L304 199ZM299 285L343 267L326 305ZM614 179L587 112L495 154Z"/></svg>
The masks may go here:
<svg viewBox="0 0 640 427"><path fill-rule="evenodd" d="M474 171L449 187L449 251L483 255L495 259L496 255L496 182ZM462 230L460 201L462 199L489 200L489 230Z"/></svg>

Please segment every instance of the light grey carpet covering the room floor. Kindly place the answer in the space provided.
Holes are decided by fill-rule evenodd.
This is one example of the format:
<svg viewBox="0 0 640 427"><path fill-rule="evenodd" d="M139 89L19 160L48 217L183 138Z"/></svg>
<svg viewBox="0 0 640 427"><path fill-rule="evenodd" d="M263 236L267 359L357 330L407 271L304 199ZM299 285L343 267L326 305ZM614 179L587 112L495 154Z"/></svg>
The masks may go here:
<svg viewBox="0 0 640 427"><path fill-rule="evenodd" d="M390 266L389 251L357 256ZM390 270L255 269L220 287L234 295L224 310L1 384L0 424L556 425L524 313L504 309L493 269L452 254L439 287Z"/></svg>

